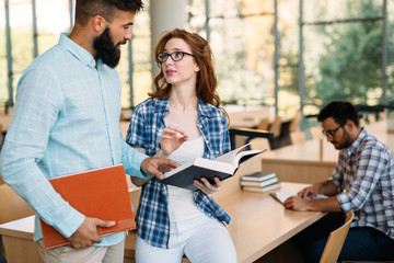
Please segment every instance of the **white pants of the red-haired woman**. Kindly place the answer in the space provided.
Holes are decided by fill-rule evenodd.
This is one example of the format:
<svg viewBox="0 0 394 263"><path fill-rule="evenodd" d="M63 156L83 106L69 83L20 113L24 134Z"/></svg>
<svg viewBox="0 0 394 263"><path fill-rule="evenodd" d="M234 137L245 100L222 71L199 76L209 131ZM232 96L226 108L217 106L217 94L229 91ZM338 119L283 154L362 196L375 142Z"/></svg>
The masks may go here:
<svg viewBox="0 0 394 263"><path fill-rule="evenodd" d="M169 249L148 244L137 237L137 263L178 263L186 255L192 263L235 263L236 252L225 227L207 216L171 222Z"/></svg>

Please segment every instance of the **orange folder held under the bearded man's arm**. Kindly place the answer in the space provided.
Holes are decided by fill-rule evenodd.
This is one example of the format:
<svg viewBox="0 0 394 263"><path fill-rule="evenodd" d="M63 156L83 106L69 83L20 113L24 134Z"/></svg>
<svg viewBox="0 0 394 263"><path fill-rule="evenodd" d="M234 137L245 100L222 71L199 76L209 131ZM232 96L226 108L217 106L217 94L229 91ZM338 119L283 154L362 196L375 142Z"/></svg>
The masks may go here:
<svg viewBox="0 0 394 263"><path fill-rule="evenodd" d="M116 221L99 228L100 236L136 229L123 164L49 179L61 197L86 217ZM40 220L45 248L68 244L55 228Z"/></svg>

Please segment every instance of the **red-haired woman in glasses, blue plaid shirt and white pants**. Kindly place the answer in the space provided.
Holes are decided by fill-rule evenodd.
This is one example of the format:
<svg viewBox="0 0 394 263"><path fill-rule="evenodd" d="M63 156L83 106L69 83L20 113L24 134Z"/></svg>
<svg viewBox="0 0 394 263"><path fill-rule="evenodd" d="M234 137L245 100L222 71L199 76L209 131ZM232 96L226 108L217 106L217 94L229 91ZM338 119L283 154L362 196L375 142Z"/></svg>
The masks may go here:
<svg viewBox="0 0 394 263"><path fill-rule="evenodd" d="M148 156L185 163L230 151L225 112L220 108L212 52L207 41L184 30L166 32L154 48L161 71L155 92L134 112L127 142ZM195 181L193 192L134 180L142 186L137 220L137 262L236 262L224 222L230 217L212 199L221 182Z"/></svg>

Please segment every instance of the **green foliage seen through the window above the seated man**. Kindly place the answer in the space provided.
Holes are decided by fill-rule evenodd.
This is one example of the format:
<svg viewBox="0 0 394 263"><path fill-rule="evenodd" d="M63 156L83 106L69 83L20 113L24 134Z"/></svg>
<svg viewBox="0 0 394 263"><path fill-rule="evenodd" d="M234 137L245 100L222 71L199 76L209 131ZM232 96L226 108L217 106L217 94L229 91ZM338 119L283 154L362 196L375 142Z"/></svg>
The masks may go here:
<svg viewBox="0 0 394 263"><path fill-rule="evenodd" d="M381 4L369 0L347 5L349 16L376 18ZM393 25L392 25L393 26ZM323 28L322 28L323 27ZM380 104L382 95L382 22L355 22L346 26L320 26L329 41L318 59L317 76L308 76L306 89L317 104L333 100L349 100L355 104ZM394 54L394 41L389 34L389 56ZM387 67L387 98L393 100L393 66ZM308 83L310 85L308 85Z"/></svg>

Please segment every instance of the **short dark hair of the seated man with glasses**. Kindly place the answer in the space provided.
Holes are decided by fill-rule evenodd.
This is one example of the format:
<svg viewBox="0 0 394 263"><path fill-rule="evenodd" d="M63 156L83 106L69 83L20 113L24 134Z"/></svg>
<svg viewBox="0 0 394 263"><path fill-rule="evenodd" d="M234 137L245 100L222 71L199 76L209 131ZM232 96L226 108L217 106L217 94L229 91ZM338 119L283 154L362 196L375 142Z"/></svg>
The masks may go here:
<svg viewBox="0 0 394 263"><path fill-rule="evenodd" d="M324 119L333 117L335 123L345 125L348 119L359 126L359 115L356 107L347 101L333 101L325 105L317 115L317 121L323 122Z"/></svg>

